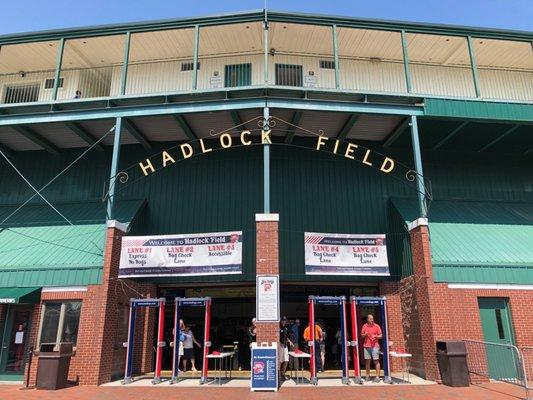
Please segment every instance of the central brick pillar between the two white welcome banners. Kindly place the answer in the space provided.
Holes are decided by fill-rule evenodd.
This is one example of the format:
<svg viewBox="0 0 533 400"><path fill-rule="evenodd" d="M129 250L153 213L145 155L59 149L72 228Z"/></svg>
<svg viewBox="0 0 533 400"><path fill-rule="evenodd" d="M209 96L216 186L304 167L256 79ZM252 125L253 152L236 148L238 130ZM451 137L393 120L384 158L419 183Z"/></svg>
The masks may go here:
<svg viewBox="0 0 533 400"><path fill-rule="evenodd" d="M279 275L278 214L256 214L256 274ZM277 322L257 323L257 343L279 342Z"/></svg>

